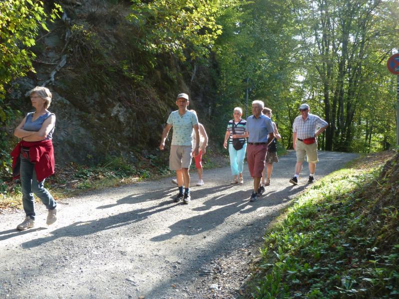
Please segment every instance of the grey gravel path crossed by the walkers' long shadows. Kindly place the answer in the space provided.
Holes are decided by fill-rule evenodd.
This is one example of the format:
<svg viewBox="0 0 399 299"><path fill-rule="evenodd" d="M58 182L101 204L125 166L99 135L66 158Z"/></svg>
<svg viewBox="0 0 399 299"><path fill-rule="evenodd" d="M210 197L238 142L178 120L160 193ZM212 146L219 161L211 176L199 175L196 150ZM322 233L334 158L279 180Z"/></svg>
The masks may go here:
<svg viewBox="0 0 399 299"><path fill-rule="evenodd" d="M355 157L320 152L316 179ZM172 201L168 178L59 202L52 226L42 205L23 232L23 212L0 214L0 298L234 298L246 275L240 257L257 254L256 239L306 187L306 163L299 185L288 183L294 164L295 152L281 157L255 203L245 165L242 186L228 184L229 167L204 171L190 205Z"/></svg>

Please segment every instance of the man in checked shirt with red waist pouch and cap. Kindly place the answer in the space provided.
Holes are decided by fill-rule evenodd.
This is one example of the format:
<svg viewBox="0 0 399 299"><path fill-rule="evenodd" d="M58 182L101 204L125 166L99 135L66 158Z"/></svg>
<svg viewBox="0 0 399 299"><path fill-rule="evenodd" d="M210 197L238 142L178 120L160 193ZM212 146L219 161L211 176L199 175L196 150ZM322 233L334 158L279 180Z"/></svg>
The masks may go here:
<svg viewBox="0 0 399 299"><path fill-rule="evenodd" d="M309 180L308 183L314 182L316 163L319 161L317 157L317 139L326 128L328 123L317 115L309 113L309 105L302 104L299 107L300 115L295 118L292 125L292 142L296 150L295 175L290 179L290 183L297 185L299 173L302 170L302 163L306 160L309 164ZM318 129L316 131L316 129Z"/></svg>

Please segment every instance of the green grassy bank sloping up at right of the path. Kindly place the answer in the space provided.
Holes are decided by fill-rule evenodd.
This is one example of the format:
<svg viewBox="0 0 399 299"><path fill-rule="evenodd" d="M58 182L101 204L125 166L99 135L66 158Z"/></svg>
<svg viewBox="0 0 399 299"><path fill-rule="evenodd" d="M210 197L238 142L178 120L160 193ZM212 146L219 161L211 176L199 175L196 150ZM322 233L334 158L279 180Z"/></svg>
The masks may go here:
<svg viewBox="0 0 399 299"><path fill-rule="evenodd" d="M247 297L398 298L399 154L315 183L266 234Z"/></svg>

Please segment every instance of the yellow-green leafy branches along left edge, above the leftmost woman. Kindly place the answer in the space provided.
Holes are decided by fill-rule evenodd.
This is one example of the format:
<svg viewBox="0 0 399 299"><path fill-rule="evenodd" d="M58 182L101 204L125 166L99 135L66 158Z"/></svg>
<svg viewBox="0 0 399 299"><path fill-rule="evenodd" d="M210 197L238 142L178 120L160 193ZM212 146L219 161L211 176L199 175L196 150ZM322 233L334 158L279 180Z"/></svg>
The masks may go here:
<svg viewBox="0 0 399 299"><path fill-rule="evenodd" d="M20 114L4 103L6 86L11 80L34 72L31 60L35 57L30 50L40 30L46 30L46 21L59 16L61 6L54 3L49 14L42 1L5 0L0 1L0 127L6 128ZM10 144L8 133L0 131L0 176L11 173Z"/></svg>

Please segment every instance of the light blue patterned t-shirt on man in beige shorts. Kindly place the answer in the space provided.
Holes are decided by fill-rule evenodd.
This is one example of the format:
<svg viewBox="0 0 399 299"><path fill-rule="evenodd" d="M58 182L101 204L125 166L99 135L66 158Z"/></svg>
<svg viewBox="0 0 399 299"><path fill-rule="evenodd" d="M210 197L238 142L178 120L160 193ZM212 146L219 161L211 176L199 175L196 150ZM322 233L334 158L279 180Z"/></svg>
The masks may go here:
<svg viewBox="0 0 399 299"><path fill-rule="evenodd" d="M179 110L173 111L167 124L172 125L172 146L191 146L193 127L198 125L197 115L187 110L182 116Z"/></svg>

